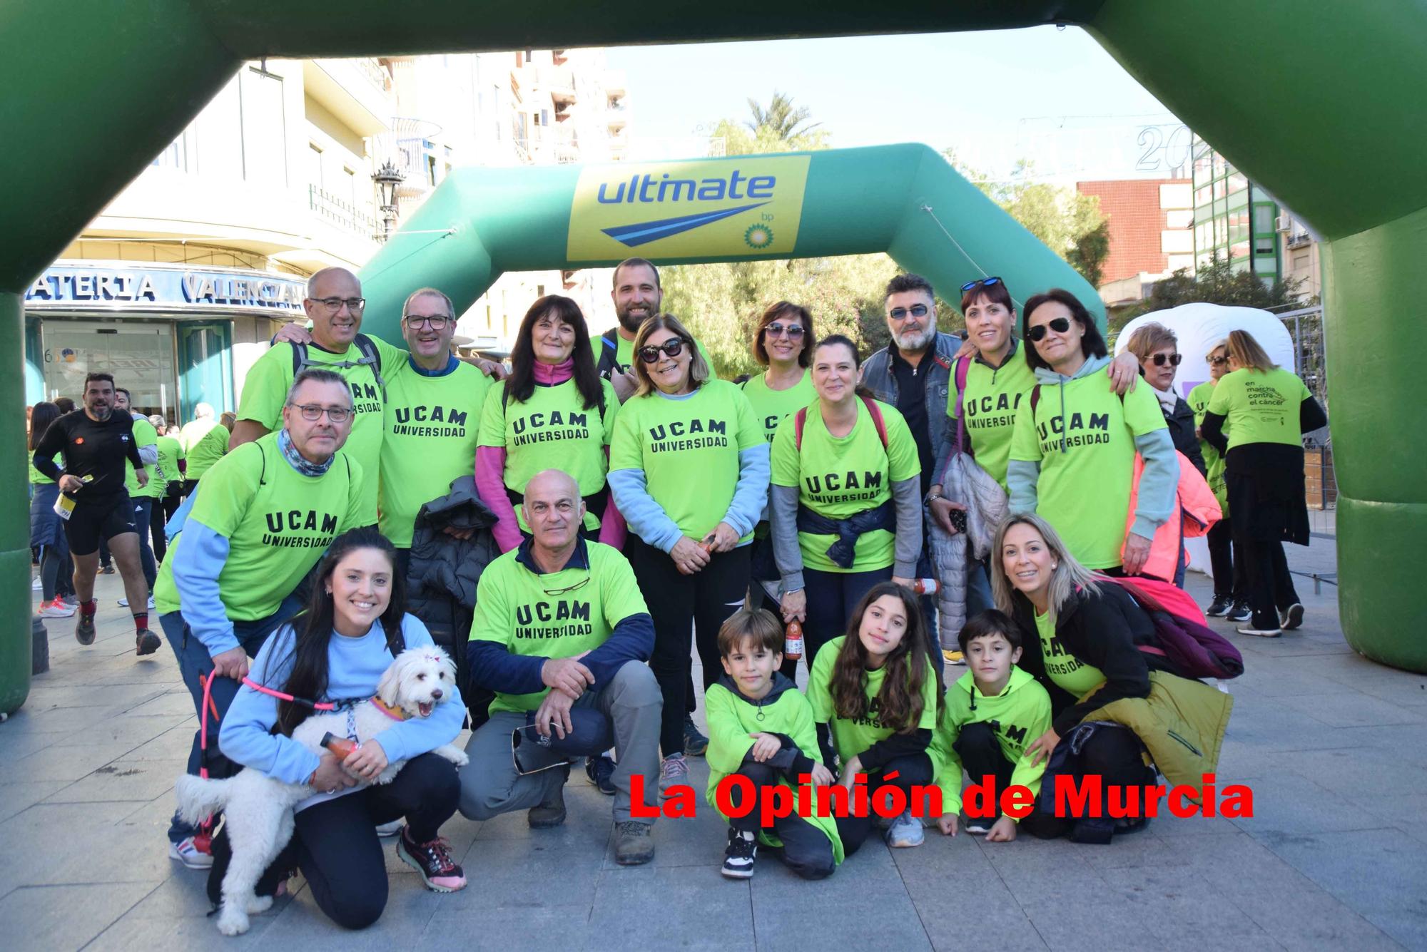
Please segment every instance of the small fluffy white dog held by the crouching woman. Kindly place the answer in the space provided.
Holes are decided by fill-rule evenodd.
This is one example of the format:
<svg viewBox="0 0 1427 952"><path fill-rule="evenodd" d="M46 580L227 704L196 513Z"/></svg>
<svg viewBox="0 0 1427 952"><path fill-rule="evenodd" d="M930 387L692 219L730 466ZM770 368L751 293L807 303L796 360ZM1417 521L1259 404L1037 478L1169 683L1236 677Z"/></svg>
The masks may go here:
<svg viewBox="0 0 1427 952"><path fill-rule="evenodd" d="M454 684L455 664L445 651L438 647L407 648L381 676L377 698L407 717L431 717L437 704L451 698ZM352 714L360 743L398 723L371 700L352 708ZM293 731L293 740L314 754L323 754L323 737L328 733L347 737L347 723L345 711L313 714ZM467 764L467 755L451 744L431 752L457 767ZM390 784L404 764L405 761L388 764L374 782ZM247 932L248 914L264 912L273 905L271 896L258 896L253 889L293 838L293 808L315 792L318 791L305 784L284 784L255 770L244 770L228 780L203 780L184 774L174 784L178 815L184 822L201 824L220 809L225 815L233 859L223 876L218 932Z"/></svg>

